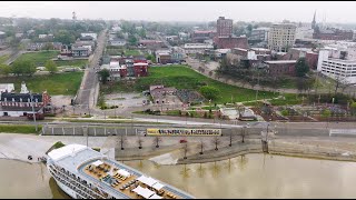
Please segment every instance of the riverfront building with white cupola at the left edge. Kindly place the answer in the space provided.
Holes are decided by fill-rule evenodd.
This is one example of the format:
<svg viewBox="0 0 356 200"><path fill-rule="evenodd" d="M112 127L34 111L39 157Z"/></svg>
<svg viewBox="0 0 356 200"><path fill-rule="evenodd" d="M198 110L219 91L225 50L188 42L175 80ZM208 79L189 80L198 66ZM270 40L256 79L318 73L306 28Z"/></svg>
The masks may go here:
<svg viewBox="0 0 356 200"><path fill-rule="evenodd" d="M29 93L26 83L21 83L21 92L1 92L0 117L29 117L36 113L37 119L43 119L46 107L51 102L47 91L42 93ZM32 110L33 106L33 110Z"/></svg>

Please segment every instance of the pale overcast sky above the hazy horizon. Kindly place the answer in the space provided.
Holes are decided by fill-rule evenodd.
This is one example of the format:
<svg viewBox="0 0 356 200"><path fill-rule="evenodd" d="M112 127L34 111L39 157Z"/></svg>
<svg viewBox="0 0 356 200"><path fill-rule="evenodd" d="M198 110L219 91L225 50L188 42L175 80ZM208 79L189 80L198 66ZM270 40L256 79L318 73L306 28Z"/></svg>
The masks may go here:
<svg viewBox="0 0 356 200"><path fill-rule="evenodd" d="M348 23L356 22L355 8L355 1L0 1L0 16L70 19L76 11L78 19L310 22L317 10L317 22Z"/></svg>

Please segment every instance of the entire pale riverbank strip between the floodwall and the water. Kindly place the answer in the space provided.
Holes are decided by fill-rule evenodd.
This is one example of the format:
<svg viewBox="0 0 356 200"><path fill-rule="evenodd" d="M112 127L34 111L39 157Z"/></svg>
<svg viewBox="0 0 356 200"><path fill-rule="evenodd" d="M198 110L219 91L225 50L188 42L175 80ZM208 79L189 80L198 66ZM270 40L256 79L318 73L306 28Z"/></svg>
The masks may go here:
<svg viewBox="0 0 356 200"><path fill-rule="evenodd" d="M234 139L229 147L229 137L221 137L218 150L210 139L206 139L202 154L199 137L189 138L187 148L177 143L177 138L164 138L160 147L152 146L154 138L145 138L142 148L137 146L136 137L128 137L125 150L118 144L118 138L89 137L88 146L101 149L101 152L118 161L150 160L157 164L204 163L231 159L241 154L263 153L258 137L248 137L243 143L240 138ZM56 143L86 144L86 137L69 136L34 136L34 134L0 134L0 159L11 159L26 162L40 162L39 158ZM208 142L209 141L209 142ZM186 152L185 152L186 151ZM356 161L356 138L342 137L275 137L268 142L268 153L301 157L310 159L327 159L338 161ZM28 159L32 157L32 160ZM184 159L184 157L187 157Z"/></svg>

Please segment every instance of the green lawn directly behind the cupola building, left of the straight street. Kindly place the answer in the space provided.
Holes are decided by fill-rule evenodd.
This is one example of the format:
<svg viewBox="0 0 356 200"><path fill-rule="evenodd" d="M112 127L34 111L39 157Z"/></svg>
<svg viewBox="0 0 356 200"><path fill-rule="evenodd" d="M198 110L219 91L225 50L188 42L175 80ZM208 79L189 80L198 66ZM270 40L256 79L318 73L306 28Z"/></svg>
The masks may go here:
<svg viewBox="0 0 356 200"><path fill-rule="evenodd" d="M82 72L66 72L33 77L1 78L0 83L14 83L17 92L21 90L21 82L32 92L41 93L47 90L50 96L75 96L80 87Z"/></svg>

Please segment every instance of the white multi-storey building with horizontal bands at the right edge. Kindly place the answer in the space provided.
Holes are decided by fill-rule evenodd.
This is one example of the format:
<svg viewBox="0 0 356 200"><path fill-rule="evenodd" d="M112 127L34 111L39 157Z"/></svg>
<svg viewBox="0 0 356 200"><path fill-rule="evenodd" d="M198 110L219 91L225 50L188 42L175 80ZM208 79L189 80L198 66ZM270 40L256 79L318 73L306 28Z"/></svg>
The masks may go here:
<svg viewBox="0 0 356 200"><path fill-rule="evenodd" d="M342 83L356 83L356 58L345 49L320 49L317 71Z"/></svg>

